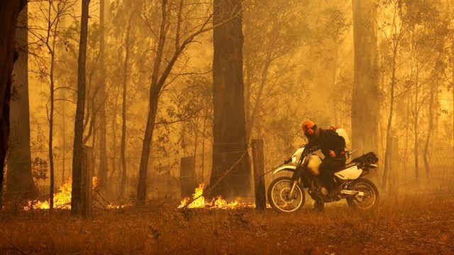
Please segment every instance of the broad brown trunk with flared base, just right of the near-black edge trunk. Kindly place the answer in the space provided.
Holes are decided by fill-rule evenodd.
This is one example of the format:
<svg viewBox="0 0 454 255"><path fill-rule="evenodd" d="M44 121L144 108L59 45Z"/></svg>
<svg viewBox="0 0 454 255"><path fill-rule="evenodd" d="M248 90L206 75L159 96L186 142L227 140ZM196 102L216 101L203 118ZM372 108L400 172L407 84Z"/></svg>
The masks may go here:
<svg viewBox="0 0 454 255"><path fill-rule="evenodd" d="M30 110L28 103L28 13L23 8L18 16L16 46L18 60L13 68L13 91L9 121L8 174L6 194L11 198L35 198L38 192L33 183L30 149Z"/></svg>

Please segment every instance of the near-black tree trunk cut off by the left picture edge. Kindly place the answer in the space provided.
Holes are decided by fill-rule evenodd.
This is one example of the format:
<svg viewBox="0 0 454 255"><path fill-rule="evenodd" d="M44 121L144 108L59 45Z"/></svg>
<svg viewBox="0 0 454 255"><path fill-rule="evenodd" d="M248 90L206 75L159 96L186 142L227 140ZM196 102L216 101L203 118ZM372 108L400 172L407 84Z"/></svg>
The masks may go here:
<svg viewBox="0 0 454 255"><path fill-rule="evenodd" d="M27 1L0 1L0 208L6 152L9 144L11 74L17 58L15 35L19 13Z"/></svg>

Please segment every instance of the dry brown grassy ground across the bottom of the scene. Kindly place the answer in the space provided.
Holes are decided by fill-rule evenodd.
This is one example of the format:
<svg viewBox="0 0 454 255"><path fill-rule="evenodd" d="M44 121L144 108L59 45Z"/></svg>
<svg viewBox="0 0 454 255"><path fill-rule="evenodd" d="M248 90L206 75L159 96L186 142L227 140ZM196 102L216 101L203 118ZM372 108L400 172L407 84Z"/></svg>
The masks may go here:
<svg viewBox="0 0 454 255"><path fill-rule="evenodd" d="M454 194L301 212L144 208L0 212L0 254L454 254Z"/></svg>

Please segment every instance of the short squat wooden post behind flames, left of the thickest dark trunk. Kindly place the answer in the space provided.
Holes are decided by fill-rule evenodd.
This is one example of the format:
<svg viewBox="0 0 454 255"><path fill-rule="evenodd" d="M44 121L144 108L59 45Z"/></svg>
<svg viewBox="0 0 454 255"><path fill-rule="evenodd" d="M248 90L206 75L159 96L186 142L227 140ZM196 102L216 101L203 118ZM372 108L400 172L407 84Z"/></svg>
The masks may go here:
<svg viewBox="0 0 454 255"><path fill-rule="evenodd" d="M196 161L194 157L182 157L179 164L179 186L182 198L192 198L196 181Z"/></svg>

